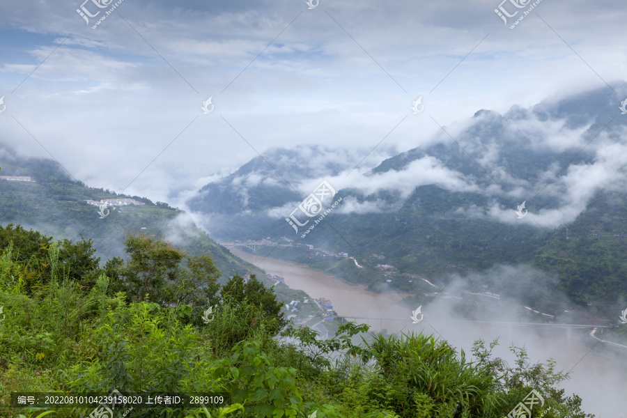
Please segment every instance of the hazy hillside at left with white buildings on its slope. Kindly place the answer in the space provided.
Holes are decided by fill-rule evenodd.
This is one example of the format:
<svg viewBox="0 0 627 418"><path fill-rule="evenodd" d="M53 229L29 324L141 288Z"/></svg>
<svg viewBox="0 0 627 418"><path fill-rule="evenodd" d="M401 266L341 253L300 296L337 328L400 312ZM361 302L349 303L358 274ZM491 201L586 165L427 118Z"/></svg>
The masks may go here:
<svg viewBox="0 0 627 418"><path fill-rule="evenodd" d="M91 238L95 256L104 264L107 259L125 258L123 238L127 231L145 232L164 237L189 251L189 254L210 254L221 281L234 274L249 272L263 276L263 271L210 239L206 233L185 218L185 212L167 203L153 203L139 196L127 196L94 189L71 180L52 160L25 159L13 150L0 148L1 176L28 176L31 181L0 180L0 224L21 224L56 239ZM102 210L87 200L133 199L137 203L113 206ZM261 278L261 277L260 277Z"/></svg>

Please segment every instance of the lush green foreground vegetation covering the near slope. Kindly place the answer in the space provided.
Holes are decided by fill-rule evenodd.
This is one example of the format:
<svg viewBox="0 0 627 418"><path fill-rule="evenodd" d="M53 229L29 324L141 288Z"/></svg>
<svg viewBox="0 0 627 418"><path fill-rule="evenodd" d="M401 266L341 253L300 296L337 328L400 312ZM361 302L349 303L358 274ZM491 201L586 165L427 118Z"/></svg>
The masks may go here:
<svg viewBox="0 0 627 418"><path fill-rule="evenodd" d="M93 408L10 408L17 392L220 392L223 408L134 408L116 417L503 417L532 389L534 416L592 417L547 364L515 366L477 341L473 359L423 334L333 339L295 329L252 276L224 286L208 256L129 234L128 260L98 267L90 240L0 228L0 417L84 417ZM208 307L212 307L208 312ZM360 341L357 341L360 340Z"/></svg>

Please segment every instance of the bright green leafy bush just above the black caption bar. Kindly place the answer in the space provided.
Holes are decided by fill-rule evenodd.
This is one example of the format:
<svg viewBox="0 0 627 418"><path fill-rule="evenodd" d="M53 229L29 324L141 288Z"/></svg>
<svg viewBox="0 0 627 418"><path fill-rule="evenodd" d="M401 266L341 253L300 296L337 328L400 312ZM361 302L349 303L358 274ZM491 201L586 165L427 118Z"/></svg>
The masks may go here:
<svg viewBox="0 0 627 418"><path fill-rule="evenodd" d="M131 304L107 315L95 330L98 356L72 367L75 392L223 392L212 378L215 365L191 325L170 318L158 304ZM182 410L142 408L137 417L174 417Z"/></svg>

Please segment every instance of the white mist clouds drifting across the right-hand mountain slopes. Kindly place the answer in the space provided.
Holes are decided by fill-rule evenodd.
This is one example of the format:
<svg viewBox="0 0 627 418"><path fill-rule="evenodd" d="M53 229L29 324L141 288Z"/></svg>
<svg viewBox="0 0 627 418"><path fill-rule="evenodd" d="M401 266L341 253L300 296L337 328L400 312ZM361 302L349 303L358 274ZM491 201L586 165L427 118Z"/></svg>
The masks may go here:
<svg viewBox="0 0 627 418"><path fill-rule="evenodd" d="M555 104L557 106L557 104ZM364 172L354 171L350 167L355 162L354 150L337 148L335 150L320 147L294 148L290 153L270 154L268 160L273 167L279 167L280 172L286 170L295 162L302 162L302 173L307 177L294 176L286 170L292 187L295 187L302 196L307 196L326 180L336 191L346 190L343 204L336 212L343 214L379 213L398 210L396 201L392 204L382 199L369 199L359 203L352 192L365 196L376 196L380 192L398 192L400 199L407 199L416 187L423 185L437 185L452 193L477 193L488 198L491 203L486 208L458 208L457 215L465 215L472 219L490 219L497 222L509 223L515 216L515 207L505 208L499 203L503 198L517 200L517 205L527 201L528 215L516 222L524 222L529 226L545 229L555 229L573 222L586 208L590 199L601 190L621 190L627 185L626 167L627 150L621 132L624 128L614 127L612 132L601 132L594 138L594 142L586 137L591 130L592 121L580 127L566 127L564 119L545 119L541 121L538 114L530 108L514 107L501 116L495 112L483 112L477 118L456 123L446 130L435 134L431 139L424 141L424 149L428 152L429 146L444 142L452 148L463 148L463 152L472 155L472 164L478 164L481 170L485 169L492 178L474 178L460 171L447 167L447 163L433 155L426 155L413 160L403 169L388 170L364 176ZM498 136L495 136L495 132ZM451 137L457 138L458 143L452 144ZM619 141L619 142L617 142ZM509 172L504 166L504 155L509 155L509 148L535 155L559 155L570 153L575 156L585 150L584 155L591 157L591 162L575 162L568 167L564 163L553 162L545 168L539 166L540 171L534 172L531 178L518 178L515 173ZM468 159L460 151L456 158ZM278 155L278 156L277 156ZM381 155L377 153L377 157ZM511 157L508 157L511 158ZM339 170L336 175L329 176L332 167ZM327 173L325 176L324 173ZM274 174L274 173L272 173ZM268 177L267 172L258 172L240 178L237 183L242 187L254 187ZM496 183L494 180L496 180ZM488 185L486 185L488 181ZM272 182L281 185L281 182L272 178ZM240 190L240 193L245 193ZM543 201L552 201L554 207L543 208L537 206L536 199L541 194ZM291 202L277 208L270 208L268 215L282 217L289 213L300 202ZM536 206L534 206L534 204Z"/></svg>

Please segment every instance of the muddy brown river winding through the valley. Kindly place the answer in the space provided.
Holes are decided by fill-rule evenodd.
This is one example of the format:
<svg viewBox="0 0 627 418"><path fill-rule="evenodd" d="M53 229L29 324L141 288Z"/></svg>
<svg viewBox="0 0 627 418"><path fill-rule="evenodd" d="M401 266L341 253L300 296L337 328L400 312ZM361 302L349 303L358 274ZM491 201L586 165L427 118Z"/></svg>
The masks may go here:
<svg viewBox="0 0 627 418"><path fill-rule="evenodd" d="M263 258L238 249L231 252L245 261L257 265L270 274L277 274L285 278L285 284L293 289L299 289L309 296L326 297L331 300L334 310L339 316L362 316L376 318L410 318L412 309L400 307L396 302L403 300L398 293L373 293L366 286L351 286L328 274L311 270L305 265L298 265L274 258ZM509 353L512 343L517 347L525 346L532 363L546 363L549 358L557 362L558 371L571 370L571 379L562 382L566 394L578 394L582 398L582 409L587 413L595 414L598 418L627 418L627 397L624 388L627 387L625 376L618 371L617 364L596 355L585 344L589 330L575 334L573 339L566 340L566 332L556 336L540 336L531 331L513 327L495 327L492 325L477 325L468 323L441 323L428 320L430 315L442 316L444 311L449 314L451 309L448 302L430 304L423 307L425 318L421 323L412 321L385 320L358 320L371 325L371 330L386 328L388 332L425 332L442 336L456 348L463 348L470 354L473 341L483 339L490 342L500 338L500 346L495 348L494 355L502 357L514 365L514 357ZM463 319L463 318L460 318ZM502 318L496 318L500 321ZM627 356L627 350L625 355Z"/></svg>

